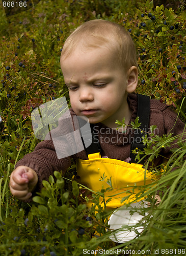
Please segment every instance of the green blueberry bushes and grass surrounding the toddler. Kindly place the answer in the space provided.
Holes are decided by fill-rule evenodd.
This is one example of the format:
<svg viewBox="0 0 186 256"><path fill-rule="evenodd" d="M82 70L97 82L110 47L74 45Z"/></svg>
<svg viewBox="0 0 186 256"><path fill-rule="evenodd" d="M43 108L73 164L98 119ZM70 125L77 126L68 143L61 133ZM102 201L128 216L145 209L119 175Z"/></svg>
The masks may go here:
<svg viewBox="0 0 186 256"><path fill-rule="evenodd" d="M87 20L110 20L130 33L139 65L136 92L170 105L185 122L184 1L48 0L9 17L2 4L0 7L0 255L82 256L83 249L110 249L104 255L114 255L112 250L121 248L150 250L152 254L157 249L177 253L185 249L186 146L181 139L164 170L166 175L148 194L144 187L137 195L138 199L145 196L151 206L141 211L142 234L136 231L137 238L124 244L109 239L112 212L105 208L104 189L93 194L92 208L86 207L91 191L73 181L73 162L65 177L55 173L44 181L43 190L31 203L16 200L9 190L16 162L39 142L33 133L32 111L62 96L69 102L60 54L65 39ZM149 161L174 139L156 137L154 150L150 144L145 152ZM177 169L171 172L173 167ZM154 172L158 174L158 170ZM160 190L162 201L157 207L154 195ZM99 204L100 198L104 206ZM131 214L134 211L139 210L132 209Z"/></svg>

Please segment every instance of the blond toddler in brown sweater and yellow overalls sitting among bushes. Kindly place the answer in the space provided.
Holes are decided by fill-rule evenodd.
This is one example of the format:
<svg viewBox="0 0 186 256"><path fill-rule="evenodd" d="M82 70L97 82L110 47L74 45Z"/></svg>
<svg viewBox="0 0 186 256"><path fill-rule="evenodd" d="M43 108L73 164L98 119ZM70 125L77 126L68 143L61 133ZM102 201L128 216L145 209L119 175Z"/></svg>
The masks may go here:
<svg viewBox="0 0 186 256"><path fill-rule="evenodd" d="M135 45L129 33L121 25L107 20L95 19L84 23L65 41L61 53L61 68L69 89L72 107L70 114L72 117L88 118L98 138L100 151L87 155L83 150L58 159L54 142L49 138L45 139L35 147L34 152L16 163L10 177L12 195L19 200L32 200L34 193L41 190L42 180L48 180L55 170L65 173L70 167L71 158L77 161L77 175L81 177L79 182L93 190L101 188L99 178L104 173L99 164L95 169L95 162L100 163L100 166L101 163L112 164L110 167L105 165L105 171L111 170L107 176L112 177L113 187L121 188L128 183L134 185L139 176L141 180L138 184L143 185L142 165L130 163L130 144L134 139L130 126L135 121L138 110L138 97L134 93L138 84L138 64ZM125 127L116 130L116 120L123 118ZM149 127L156 125L155 134L181 134L184 123L180 119L176 121L176 118L177 114L166 104L150 100ZM59 124L58 129L63 129L63 126L64 124ZM175 146L171 145L170 148ZM170 148L164 148L161 156L154 159L154 166L170 157ZM114 167L116 161L124 169L125 183L120 182L122 175ZM134 174L139 173L134 180L131 176L127 179L131 170ZM98 183L101 185L97 186ZM111 207L118 207L118 203Z"/></svg>

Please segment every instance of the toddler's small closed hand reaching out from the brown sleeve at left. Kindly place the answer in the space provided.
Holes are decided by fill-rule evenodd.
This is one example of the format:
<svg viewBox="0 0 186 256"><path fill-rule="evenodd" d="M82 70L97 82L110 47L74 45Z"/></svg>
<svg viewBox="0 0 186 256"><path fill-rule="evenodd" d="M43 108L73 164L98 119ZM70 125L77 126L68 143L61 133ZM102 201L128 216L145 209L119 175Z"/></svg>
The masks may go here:
<svg viewBox="0 0 186 256"><path fill-rule="evenodd" d="M38 176L30 167L18 166L10 176L10 191L19 200L28 200L36 188Z"/></svg>

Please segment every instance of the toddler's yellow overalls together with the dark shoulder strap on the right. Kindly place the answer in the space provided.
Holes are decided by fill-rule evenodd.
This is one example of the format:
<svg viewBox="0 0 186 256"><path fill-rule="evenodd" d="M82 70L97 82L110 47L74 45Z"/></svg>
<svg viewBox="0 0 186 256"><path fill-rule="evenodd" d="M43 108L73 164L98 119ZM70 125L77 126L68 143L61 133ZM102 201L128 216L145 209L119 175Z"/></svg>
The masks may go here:
<svg viewBox="0 0 186 256"><path fill-rule="evenodd" d="M149 123L150 113L150 99L148 96L138 95L138 113L139 122L141 122L140 133L135 135L136 140L132 143L133 147L144 148L142 143L141 131L147 131ZM141 140L139 138L141 136ZM96 144L96 143L95 143ZM93 143L92 143L93 145ZM92 153L93 154L90 154ZM98 191L103 188L108 188L107 179L111 178L112 191L105 193L105 201L112 197L112 200L108 202L107 207L117 208L122 206L121 199L129 196L123 204L131 202L136 199L135 195L139 193L139 187L147 185L156 179L155 175L145 173L145 169L142 168L143 164L135 163L134 154L130 154L132 163L127 163L117 159L101 158L100 153L95 149L95 145L87 152L88 160L77 159L77 175L80 177L78 183L81 183L93 191ZM107 176L104 181L100 181L101 177ZM136 186L136 188L131 187ZM117 195L116 195L117 194ZM140 201L142 198L140 199Z"/></svg>

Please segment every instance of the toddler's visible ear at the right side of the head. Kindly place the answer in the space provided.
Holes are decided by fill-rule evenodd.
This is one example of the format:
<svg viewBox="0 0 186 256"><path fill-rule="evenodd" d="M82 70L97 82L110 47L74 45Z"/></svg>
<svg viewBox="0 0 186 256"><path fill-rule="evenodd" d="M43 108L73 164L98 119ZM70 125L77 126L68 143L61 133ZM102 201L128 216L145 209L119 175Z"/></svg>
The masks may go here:
<svg viewBox="0 0 186 256"><path fill-rule="evenodd" d="M138 68L132 66L127 72L127 86L126 91L132 93L136 90L138 84Z"/></svg>

